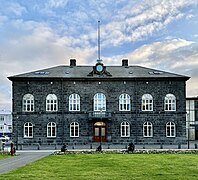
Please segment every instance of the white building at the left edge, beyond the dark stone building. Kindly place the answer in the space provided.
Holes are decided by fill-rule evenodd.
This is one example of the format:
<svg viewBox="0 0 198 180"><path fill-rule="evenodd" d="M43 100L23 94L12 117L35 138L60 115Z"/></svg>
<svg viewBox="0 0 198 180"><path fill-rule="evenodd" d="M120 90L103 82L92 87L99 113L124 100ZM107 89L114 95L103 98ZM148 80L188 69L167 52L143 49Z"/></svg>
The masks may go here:
<svg viewBox="0 0 198 180"><path fill-rule="evenodd" d="M0 137L12 134L12 113L10 111L0 111Z"/></svg>

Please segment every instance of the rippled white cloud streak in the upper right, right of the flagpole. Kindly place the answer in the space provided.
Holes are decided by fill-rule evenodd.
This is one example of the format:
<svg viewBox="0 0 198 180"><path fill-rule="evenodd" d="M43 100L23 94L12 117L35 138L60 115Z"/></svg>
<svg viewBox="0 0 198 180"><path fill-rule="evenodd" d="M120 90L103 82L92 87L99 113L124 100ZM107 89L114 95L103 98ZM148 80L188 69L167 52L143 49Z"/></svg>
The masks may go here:
<svg viewBox="0 0 198 180"><path fill-rule="evenodd" d="M115 21L104 27L104 43L114 46L148 38L170 23L188 16L184 8L197 5L196 1L145 1L137 6L123 7ZM117 37L117 38L116 38Z"/></svg>

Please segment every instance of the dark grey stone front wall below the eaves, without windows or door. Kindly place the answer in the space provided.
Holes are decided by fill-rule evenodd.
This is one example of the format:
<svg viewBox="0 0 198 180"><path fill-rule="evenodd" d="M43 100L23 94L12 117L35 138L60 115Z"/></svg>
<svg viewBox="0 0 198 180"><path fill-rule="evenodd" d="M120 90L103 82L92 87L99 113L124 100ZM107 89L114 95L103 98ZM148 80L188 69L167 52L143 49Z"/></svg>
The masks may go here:
<svg viewBox="0 0 198 180"><path fill-rule="evenodd" d="M30 93L35 99L35 111L22 111L22 98ZM56 94L58 98L58 111L46 112L46 96ZM69 95L80 95L80 112L69 112ZM93 97L96 93L104 93L107 99L107 111L112 118L104 120L107 124L107 141L112 143L125 143L133 141L137 144L165 143L176 144L186 142L186 108L185 108L185 82L173 79L147 79L147 80L116 80L89 79L64 80L40 79L21 80L13 82L13 140L19 144L63 144L63 143L90 143L93 140L93 124L88 118L88 112L93 111ZM127 93L131 97L131 111L119 111L119 96ZM172 93L177 99L177 111L164 111L164 97ZM152 112L141 111L141 98L143 94L153 96L154 107ZM78 122L80 135L70 137L70 123ZM98 119L98 121L101 121ZM120 124L123 121L130 123L130 137L120 136ZM153 137L143 137L143 123L150 121L153 124ZM172 121L176 124L176 137L166 137L166 123ZM32 139L23 138L23 125L25 122L34 124ZM47 124L57 124L57 137L47 138ZM18 137L18 138L17 138Z"/></svg>

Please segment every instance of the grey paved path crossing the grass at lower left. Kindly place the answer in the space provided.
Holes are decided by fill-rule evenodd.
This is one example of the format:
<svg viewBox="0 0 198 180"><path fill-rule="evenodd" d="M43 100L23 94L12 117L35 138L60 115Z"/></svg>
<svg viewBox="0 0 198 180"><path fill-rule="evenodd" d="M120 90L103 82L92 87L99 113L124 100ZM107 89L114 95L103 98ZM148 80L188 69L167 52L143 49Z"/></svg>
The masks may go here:
<svg viewBox="0 0 198 180"><path fill-rule="evenodd" d="M25 166L26 164L52 154L54 150L17 151L17 156L0 160L0 174Z"/></svg>

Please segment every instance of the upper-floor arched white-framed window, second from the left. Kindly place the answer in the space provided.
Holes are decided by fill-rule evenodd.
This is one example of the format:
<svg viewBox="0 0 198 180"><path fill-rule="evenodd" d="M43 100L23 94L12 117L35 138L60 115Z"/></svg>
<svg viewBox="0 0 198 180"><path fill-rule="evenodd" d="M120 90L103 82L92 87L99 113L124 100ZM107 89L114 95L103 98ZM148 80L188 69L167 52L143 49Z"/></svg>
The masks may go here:
<svg viewBox="0 0 198 180"><path fill-rule="evenodd" d="M46 97L46 111L58 111L58 99L55 94L48 94Z"/></svg>

